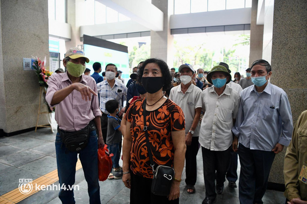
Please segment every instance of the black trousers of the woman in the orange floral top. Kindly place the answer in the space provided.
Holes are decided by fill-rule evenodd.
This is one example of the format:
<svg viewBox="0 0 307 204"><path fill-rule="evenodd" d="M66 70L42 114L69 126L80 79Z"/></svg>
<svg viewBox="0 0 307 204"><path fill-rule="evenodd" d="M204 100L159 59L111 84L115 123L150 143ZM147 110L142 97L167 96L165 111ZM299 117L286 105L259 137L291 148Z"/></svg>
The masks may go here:
<svg viewBox="0 0 307 204"><path fill-rule="evenodd" d="M131 173L131 189L130 189L130 204L179 204L179 198L168 201L166 196L153 195L151 178Z"/></svg>

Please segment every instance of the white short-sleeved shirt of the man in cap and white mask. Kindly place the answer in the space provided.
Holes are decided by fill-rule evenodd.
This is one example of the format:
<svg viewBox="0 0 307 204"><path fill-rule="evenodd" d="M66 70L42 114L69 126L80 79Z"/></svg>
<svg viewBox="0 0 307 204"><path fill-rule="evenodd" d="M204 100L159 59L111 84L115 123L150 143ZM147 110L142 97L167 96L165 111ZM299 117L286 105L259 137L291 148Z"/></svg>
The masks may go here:
<svg viewBox="0 0 307 204"><path fill-rule="evenodd" d="M183 94L181 85L178 85L170 90L169 99L182 109L186 122L186 134L188 134L195 117L195 109L202 107L202 90L191 83L187 91ZM193 137L198 137L199 133L200 126L197 125Z"/></svg>

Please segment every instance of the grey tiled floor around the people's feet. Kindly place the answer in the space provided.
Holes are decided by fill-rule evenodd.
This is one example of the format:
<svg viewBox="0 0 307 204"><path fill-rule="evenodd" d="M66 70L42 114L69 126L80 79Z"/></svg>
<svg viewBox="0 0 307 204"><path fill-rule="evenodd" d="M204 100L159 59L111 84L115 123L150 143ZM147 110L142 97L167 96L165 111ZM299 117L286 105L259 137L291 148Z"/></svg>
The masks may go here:
<svg viewBox="0 0 307 204"><path fill-rule="evenodd" d="M56 127L56 124L54 125ZM54 131L56 129L54 128ZM55 132L50 128L38 129L11 137L0 138L0 196L18 188L19 178L32 178L33 180L56 169ZM203 177L203 161L201 150L198 154L198 180L195 185L196 193L186 192L185 182L181 182L180 204L201 204L205 198ZM183 170L185 179L185 169ZM54 183L58 185L58 182ZM76 172L75 191L77 204L89 203L87 183L82 168ZM217 195L215 204L239 204L238 188L227 187L222 195ZM238 181L237 181L238 185ZM130 191L121 180L106 180L100 182L102 204L129 204ZM45 190L26 198L20 204L59 204L58 191ZM267 190L263 197L264 204L284 204L285 198L282 192Z"/></svg>

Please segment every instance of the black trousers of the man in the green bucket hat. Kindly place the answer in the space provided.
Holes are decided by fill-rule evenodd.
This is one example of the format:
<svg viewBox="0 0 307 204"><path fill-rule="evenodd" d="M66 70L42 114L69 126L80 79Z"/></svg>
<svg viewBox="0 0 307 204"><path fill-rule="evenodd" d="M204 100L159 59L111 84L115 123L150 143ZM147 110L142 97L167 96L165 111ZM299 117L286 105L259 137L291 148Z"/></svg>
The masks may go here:
<svg viewBox="0 0 307 204"><path fill-rule="evenodd" d="M211 151L202 147L205 196L215 199L215 179L216 185L222 186L225 182L225 175L229 166L231 146L225 151ZM216 171L216 174L215 174Z"/></svg>

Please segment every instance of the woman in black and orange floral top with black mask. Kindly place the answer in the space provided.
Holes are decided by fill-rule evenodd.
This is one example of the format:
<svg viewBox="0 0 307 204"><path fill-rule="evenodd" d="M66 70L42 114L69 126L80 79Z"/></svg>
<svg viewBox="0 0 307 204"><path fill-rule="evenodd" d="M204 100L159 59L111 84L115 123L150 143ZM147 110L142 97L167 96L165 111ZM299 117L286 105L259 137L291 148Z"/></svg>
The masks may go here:
<svg viewBox="0 0 307 204"><path fill-rule="evenodd" d="M169 68L162 60L148 59L138 72L138 81L147 90L147 97L130 104L125 115L127 127L123 142L122 179L131 189L130 204L179 204L179 185L186 152L185 120L181 108L162 92L171 85ZM143 103L146 103L146 126L154 169L158 165L167 165L175 170L167 197L151 193L153 168L143 131Z"/></svg>

